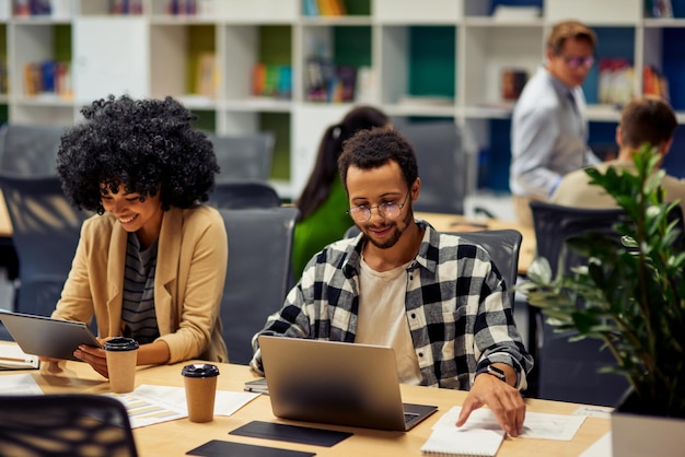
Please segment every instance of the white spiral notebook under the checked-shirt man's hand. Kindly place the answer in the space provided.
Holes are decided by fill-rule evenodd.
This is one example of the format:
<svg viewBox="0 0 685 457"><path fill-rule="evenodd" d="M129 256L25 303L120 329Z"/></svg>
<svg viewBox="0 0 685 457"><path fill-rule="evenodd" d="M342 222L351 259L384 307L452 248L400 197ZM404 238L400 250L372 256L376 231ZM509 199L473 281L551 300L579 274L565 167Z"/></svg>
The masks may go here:
<svg viewBox="0 0 685 457"><path fill-rule="evenodd" d="M458 412L458 407L453 410ZM498 424L492 411L472 411L464 425L457 427L453 421L449 426L438 422L421 446L421 455L429 456L495 456L504 440L504 431Z"/></svg>

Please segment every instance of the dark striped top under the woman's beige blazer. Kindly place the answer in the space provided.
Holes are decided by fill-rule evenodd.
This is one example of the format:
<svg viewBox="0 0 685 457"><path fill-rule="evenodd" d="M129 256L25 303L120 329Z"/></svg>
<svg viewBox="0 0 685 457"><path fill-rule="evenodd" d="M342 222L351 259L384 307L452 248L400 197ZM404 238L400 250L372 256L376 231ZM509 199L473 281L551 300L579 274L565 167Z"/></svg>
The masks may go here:
<svg viewBox="0 0 685 457"><path fill-rule="evenodd" d="M140 250L138 236L128 234L121 319L124 336L135 338L139 344L150 343L160 336L154 313L156 249L155 241Z"/></svg>

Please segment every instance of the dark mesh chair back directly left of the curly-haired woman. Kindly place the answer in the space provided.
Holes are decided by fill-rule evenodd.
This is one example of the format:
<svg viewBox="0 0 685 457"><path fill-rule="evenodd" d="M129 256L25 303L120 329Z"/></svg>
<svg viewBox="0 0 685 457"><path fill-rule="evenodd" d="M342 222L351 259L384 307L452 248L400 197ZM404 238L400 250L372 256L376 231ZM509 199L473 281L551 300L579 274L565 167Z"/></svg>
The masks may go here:
<svg viewBox="0 0 685 457"><path fill-rule="evenodd" d="M15 310L49 315L71 268L81 223L90 213L72 207L57 176L0 174L19 258Z"/></svg>

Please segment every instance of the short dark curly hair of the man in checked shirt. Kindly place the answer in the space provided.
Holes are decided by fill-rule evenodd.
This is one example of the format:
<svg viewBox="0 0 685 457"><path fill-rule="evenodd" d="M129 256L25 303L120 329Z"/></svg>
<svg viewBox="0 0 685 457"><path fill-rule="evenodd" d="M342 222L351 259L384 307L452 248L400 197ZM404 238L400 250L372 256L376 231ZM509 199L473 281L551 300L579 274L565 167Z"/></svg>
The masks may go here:
<svg viewBox="0 0 685 457"><path fill-rule="evenodd" d="M411 143L397 130L373 128L358 132L342 144L342 154L338 159L345 190L347 190L347 171L350 166L371 169L390 161L397 162L407 187L410 187L419 175Z"/></svg>

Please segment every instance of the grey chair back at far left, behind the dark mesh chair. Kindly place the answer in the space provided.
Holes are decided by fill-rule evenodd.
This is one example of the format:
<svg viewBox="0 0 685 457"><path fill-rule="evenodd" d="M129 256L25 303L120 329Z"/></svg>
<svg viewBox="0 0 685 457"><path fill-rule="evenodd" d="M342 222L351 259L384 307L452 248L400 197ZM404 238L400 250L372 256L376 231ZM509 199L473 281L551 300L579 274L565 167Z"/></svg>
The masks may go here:
<svg viewBox="0 0 685 457"><path fill-rule="evenodd" d="M0 128L0 172L16 176L56 175L65 127L5 124Z"/></svg>

